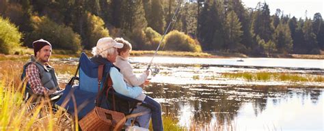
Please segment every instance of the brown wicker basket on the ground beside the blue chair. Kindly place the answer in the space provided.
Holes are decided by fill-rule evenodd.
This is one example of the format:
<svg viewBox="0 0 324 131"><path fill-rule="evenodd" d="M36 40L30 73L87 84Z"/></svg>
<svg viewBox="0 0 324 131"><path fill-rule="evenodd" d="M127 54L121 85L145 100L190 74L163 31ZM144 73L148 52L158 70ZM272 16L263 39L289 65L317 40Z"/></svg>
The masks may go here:
<svg viewBox="0 0 324 131"><path fill-rule="evenodd" d="M121 130L126 119L124 113L96 106L79 121L82 130ZM119 127L115 127L117 123Z"/></svg>

